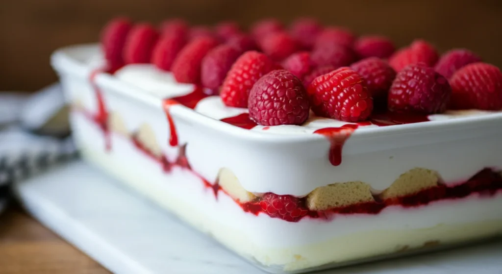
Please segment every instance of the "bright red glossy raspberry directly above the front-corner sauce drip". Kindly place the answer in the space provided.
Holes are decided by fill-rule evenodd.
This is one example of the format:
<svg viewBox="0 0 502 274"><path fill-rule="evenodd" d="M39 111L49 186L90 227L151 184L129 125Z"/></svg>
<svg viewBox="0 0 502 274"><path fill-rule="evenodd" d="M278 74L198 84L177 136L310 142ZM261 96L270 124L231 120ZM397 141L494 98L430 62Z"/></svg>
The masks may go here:
<svg viewBox="0 0 502 274"><path fill-rule="evenodd" d="M364 79L347 67L315 78L307 92L317 116L356 122L365 120L373 110Z"/></svg>

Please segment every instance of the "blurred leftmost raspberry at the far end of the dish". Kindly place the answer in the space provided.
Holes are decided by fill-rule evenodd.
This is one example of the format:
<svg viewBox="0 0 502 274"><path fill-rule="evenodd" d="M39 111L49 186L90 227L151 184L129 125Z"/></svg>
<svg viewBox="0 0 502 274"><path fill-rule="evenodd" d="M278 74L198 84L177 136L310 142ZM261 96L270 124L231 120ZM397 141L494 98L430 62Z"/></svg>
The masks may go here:
<svg viewBox="0 0 502 274"><path fill-rule="evenodd" d="M101 48L110 70L119 68L124 63L122 51L131 27L129 19L116 18L101 31Z"/></svg>

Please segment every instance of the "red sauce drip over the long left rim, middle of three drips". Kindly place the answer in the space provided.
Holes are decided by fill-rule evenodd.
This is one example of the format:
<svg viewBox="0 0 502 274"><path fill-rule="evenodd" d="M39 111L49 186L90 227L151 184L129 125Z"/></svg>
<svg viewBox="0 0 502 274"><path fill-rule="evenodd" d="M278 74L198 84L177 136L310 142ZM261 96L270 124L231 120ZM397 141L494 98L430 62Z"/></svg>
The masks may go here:
<svg viewBox="0 0 502 274"><path fill-rule="evenodd" d="M186 95L164 99L162 105L164 107L164 111L166 112L167 122L169 123L169 145L171 147L178 146L178 133L176 132L176 126L169 111L171 106L181 104L193 109L200 100L207 96L209 95L204 88L196 87L194 91Z"/></svg>

